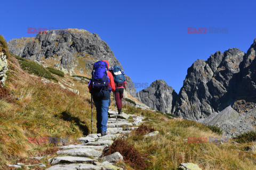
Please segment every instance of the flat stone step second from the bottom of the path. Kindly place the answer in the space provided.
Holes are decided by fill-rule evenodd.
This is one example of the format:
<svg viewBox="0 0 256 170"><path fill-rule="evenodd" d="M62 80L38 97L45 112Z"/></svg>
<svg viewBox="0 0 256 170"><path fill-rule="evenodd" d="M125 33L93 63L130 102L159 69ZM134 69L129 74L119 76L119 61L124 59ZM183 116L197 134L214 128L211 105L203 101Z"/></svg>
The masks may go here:
<svg viewBox="0 0 256 170"><path fill-rule="evenodd" d="M97 159L77 157L77 156L59 156L51 160L51 164L61 164L61 163L90 163L98 162Z"/></svg>

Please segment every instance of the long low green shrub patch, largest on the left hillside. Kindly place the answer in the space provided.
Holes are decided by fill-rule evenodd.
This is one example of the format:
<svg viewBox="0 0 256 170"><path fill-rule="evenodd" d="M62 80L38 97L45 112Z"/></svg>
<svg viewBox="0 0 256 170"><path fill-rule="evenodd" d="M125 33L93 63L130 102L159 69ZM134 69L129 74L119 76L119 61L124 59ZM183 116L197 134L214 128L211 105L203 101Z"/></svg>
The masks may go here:
<svg viewBox="0 0 256 170"><path fill-rule="evenodd" d="M14 55L18 59L19 64L23 70L27 70L30 74L34 73L38 76L44 77L46 79L52 79L58 81L53 75L47 71L42 65L37 64L33 61L26 60L25 58Z"/></svg>

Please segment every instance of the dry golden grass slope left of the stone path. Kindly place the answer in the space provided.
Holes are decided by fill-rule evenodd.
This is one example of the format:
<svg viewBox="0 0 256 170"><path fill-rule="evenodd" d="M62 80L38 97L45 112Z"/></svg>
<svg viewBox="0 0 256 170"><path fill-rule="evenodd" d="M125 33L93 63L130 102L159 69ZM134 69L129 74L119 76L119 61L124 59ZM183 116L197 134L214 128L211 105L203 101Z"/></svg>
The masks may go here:
<svg viewBox="0 0 256 170"><path fill-rule="evenodd" d="M13 104L0 100L0 165L34 156L38 150L54 146L52 143L31 143L28 137L68 137L77 142L78 137L91 131L90 95L87 95L86 84L65 78L75 84L74 89L81 90L82 95L77 95L58 83L46 83L24 72L14 57L8 62L6 88L17 99ZM95 118L94 107L93 132L96 131Z"/></svg>

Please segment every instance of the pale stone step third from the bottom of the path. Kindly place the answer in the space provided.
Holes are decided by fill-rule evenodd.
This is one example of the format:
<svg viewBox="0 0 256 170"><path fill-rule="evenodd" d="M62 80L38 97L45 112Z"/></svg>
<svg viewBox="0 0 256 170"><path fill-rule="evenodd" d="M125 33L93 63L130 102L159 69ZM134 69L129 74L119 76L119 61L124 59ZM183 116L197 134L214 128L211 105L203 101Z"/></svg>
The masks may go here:
<svg viewBox="0 0 256 170"><path fill-rule="evenodd" d="M70 156L82 156L82 157L95 157L98 158L102 155L101 151L91 149L91 148L73 148L67 150L59 150L57 151L57 155L67 154Z"/></svg>

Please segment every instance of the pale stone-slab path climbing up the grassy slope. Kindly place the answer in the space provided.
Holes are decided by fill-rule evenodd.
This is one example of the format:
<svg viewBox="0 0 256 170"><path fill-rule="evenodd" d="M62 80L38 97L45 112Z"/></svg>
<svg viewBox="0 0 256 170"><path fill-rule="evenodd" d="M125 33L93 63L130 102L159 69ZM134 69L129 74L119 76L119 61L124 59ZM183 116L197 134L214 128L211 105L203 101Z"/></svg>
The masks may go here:
<svg viewBox="0 0 256 170"><path fill-rule="evenodd" d="M138 128L135 126L142 123L143 117L123 113L118 116L116 122L116 112L110 109L109 113L110 118L107 124L107 135L101 137L101 134L89 134L86 137L78 138L82 144L59 147L61 150L57 151L58 157L48 160L53 166L46 170L122 169L113 165L114 162L123 160L123 156L119 154L119 152L102 158L99 157L102 156L103 149L112 145L116 138L126 135L130 133L131 130Z"/></svg>

